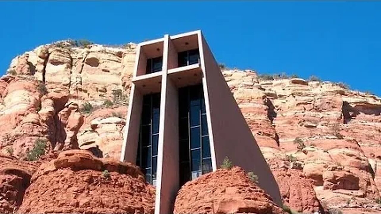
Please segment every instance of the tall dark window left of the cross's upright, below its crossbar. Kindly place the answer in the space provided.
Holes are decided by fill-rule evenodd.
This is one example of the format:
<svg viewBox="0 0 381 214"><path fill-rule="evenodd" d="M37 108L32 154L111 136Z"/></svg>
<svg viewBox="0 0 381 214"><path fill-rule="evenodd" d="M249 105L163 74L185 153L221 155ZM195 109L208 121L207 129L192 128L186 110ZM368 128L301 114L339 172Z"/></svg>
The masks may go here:
<svg viewBox="0 0 381 214"><path fill-rule="evenodd" d="M159 114L160 93L144 95L136 164L152 185L156 184Z"/></svg>

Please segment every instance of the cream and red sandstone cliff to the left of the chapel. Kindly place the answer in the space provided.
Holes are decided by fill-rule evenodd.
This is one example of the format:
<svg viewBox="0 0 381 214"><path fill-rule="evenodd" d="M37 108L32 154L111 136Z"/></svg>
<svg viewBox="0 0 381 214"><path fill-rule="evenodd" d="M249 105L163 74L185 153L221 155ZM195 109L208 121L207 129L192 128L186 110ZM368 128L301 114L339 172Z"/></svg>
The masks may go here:
<svg viewBox="0 0 381 214"><path fill-rule="evenodd" d="M37 139L49 142L46 150L77 149L78 137L82 137L81 145L88 144L83 142L83 133L88 131L83 124L90 112L81 111L83 104L100 109L105 101L110 105L128 100L134 48L134 44L77 47L62 41L13 59L10 74L0 79L1 153L12 150L13 155L25 157ZM109 157L118 158L120 153L125 108L116 111L120 121L107 119L115 117L110 110L104 115L106 121L90 129L98 135L90 141L109 148L103 151Z"/></svg>

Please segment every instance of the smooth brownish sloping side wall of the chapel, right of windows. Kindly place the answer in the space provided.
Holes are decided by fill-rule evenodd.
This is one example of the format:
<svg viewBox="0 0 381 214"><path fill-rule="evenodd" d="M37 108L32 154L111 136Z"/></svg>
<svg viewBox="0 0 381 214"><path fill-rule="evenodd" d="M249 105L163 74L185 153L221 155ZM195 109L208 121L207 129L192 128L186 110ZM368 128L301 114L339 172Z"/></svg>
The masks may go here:
<svg viewBox="0 0 381 214"><path fill-rule="evenodd" d="M225 157L246 172L252 171L258 176L259 186L263 188L277 204L281 197L277 182L259 149L237 102L227 85L221 70L211 53L207 42L202 38L203 61L207 87L204 87L210 108L211 133L215 150L216 167ZM208 114L207 114L208 115ZM214 168L214 170L216 170Z"/></svg>

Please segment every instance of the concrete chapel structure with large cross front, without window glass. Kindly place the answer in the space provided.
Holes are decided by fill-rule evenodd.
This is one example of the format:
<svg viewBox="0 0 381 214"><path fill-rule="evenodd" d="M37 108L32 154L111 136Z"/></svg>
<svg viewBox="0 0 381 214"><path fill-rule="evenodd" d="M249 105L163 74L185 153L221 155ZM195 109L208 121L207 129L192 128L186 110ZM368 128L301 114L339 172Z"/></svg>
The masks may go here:
<svg viewBox="0 0 381 214"><path fill-rule="evenodd" d="M199 48L198 64L178 67L177 53ZM162 55L161 55L162 54ZM144 74L146 60L163 57L162 71ZM225 157L258 175L281 204L278 185L200 30L140 43L131 84L121 161L136 162L142 96L160 92L155 214L173 212L179 186L178 88L202 83L213 171Z"/></svg>

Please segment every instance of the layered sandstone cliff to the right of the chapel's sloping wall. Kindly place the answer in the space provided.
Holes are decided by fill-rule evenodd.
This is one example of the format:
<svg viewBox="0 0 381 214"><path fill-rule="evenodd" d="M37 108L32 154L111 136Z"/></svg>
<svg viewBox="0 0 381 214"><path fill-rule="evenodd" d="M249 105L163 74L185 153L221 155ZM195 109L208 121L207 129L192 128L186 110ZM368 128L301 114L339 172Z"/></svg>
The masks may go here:
<svg viewBox="0 0 381 214"><path fill-rule="evenodd" d="M381 211L376 203L380 198L377 169L370 164L376 165L381 142L381 99L330 82L256 78L250 85L245 80L253 79L251 73L227 71L225 76L285 203L299 212L318 211L320 205ZM373 134L360 135L362 130ZM292 173L291 182L284 182L282 171L291 168L299 172ZM314 191L310 187L301 191L299 179L312 184ZM299 191L291 192L293 188Z"/></svg>

